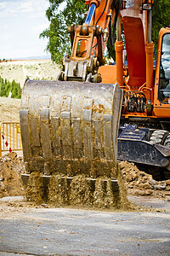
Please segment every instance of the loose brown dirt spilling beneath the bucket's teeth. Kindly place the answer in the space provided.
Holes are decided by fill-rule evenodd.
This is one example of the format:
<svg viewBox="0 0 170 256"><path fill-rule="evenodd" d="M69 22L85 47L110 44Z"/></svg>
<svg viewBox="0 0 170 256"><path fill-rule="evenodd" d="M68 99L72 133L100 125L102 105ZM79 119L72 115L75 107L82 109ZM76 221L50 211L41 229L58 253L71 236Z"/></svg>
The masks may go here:
<svg viewBox="0 0 170 256"><path fill-rule="evenodd" d="M45 200L55 207L129 209L131 204L127 201L127 196L122 197L121 189L116 182L111 182L111 178L97 177L94 180L84 175L70 178L52 175L45 198L40 173L38 175L37 172L32 172L26 197L37 204ZM126 194L126 191L124 193Z"/></svg>

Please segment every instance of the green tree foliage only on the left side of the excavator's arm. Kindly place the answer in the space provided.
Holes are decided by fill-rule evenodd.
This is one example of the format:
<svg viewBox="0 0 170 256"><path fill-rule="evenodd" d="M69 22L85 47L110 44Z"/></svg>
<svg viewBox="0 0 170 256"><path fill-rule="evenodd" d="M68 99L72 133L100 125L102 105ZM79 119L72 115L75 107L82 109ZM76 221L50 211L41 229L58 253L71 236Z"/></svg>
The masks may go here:
<svg viewBox="0 0 170 256"><path fill-rule="evenodd" d="M71 40L67 33L67 26L82 24L82 14L87 11L84 0L67 0L65 8L58 11L61 3L65 4L65 0L49 0L50 6L46 16L50 25L40 34L40 38L48 38L47 50L51 54L52 61L58 63L61 63L64 55L71 53Z"/></svg>

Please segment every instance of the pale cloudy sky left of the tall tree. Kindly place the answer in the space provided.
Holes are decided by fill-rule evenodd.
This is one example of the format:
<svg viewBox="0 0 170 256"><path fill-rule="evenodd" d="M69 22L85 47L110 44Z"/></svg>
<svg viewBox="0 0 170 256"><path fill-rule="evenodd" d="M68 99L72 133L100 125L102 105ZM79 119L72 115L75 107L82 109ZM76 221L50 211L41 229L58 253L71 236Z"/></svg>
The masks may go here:
<svg viewBox="0 0 170 256"><path fill-rule="evenodd" d="M50 56L47 39L39 38L48 28L48 0L0 0L0 59Z"/></svg>

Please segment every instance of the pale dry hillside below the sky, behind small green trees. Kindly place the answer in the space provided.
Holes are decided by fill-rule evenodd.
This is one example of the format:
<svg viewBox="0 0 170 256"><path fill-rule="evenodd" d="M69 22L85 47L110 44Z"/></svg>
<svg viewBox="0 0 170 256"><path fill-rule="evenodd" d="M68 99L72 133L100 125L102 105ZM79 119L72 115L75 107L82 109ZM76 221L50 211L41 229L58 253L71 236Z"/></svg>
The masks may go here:
<svg viewBox="0 0 170 256"><path fill-rule="evenodd" d="M10 82L14 79L23 87L26 79L54 80L59 66L50 60L21 60L0 62L0 76Z"/></svg>

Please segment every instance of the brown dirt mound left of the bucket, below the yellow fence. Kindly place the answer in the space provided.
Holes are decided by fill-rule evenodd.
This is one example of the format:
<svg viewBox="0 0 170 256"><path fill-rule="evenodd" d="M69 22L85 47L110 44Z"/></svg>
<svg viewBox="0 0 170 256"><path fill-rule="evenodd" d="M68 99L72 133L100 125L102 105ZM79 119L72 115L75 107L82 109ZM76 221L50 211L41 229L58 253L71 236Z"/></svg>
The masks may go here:
<svg viewBox="0 0 170 256"><path fill-rule="evenodd" d="M22 158L14 152L0 158L0 198L25 194L20 177L23 169Z"/></svg>

